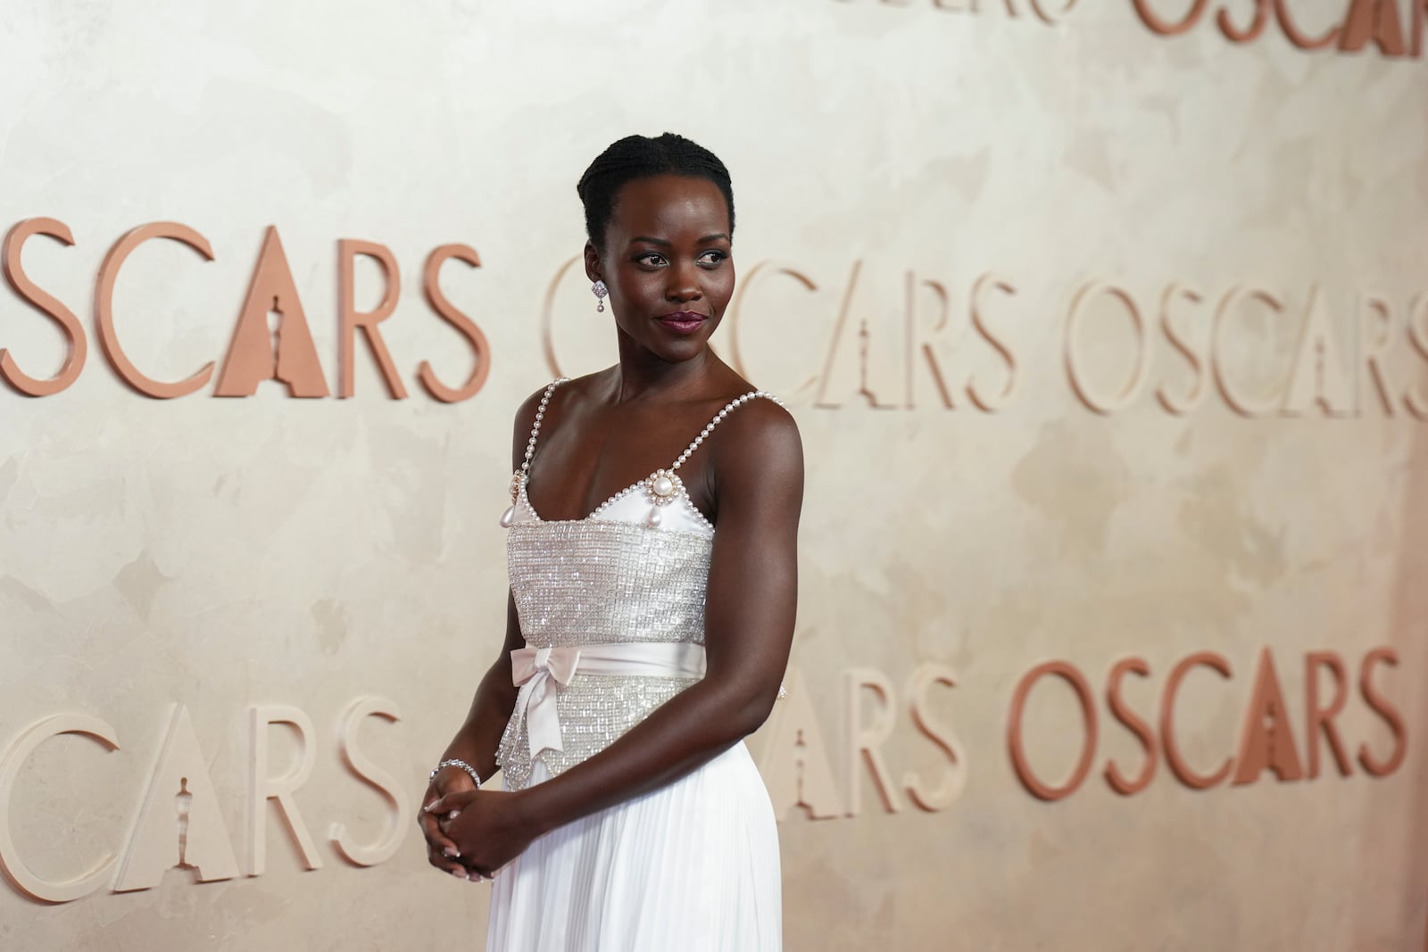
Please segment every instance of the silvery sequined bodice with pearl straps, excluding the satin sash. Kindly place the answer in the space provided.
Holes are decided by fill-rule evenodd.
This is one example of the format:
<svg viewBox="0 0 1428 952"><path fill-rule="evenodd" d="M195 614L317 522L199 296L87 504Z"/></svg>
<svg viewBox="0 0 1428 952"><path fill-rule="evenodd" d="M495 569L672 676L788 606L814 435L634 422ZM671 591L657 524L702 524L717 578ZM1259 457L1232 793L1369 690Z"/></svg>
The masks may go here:
<svg viewBox="0 0 1428 952"><path fill-rule="evenodd" d="M501 518L510 530L507 568L526 644L703 645L714 527L694 508L677 470L727 412L767 394L731 401L670 470L617 492L587 518L547 522L530 505L526 480L545 407L560 383L545 391L526 464L513 480L513 505ZM695 681L577 671L555 695L563 749L544 749L538 756L554 776L603 751ZM518 711L506 726L497 761L507 789L530 784L533 756Z"/></svg>

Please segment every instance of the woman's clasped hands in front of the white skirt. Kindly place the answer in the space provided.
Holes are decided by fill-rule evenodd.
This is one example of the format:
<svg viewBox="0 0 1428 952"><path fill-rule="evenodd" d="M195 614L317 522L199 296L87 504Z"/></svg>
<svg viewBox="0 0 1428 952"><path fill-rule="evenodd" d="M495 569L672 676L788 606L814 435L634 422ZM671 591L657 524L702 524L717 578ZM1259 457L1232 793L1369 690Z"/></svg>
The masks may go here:
<svg viewBox="0 0 1428 952"><path fill-rule="evenodd" d="M456 774L460 774L457 771ZM520 796L481 791L470 778L427 788L417 815L427 838L427 861L453 876L480 882L516 859L536 838Z"/></svg>

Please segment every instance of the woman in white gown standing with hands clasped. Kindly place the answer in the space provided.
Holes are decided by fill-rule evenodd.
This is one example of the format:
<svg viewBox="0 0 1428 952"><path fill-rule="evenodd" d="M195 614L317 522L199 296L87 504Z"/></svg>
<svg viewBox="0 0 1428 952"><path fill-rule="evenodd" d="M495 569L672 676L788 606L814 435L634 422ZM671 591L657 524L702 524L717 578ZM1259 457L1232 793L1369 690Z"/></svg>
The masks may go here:
<svg viewBox="0 0 1428 952"><path fill-rule="evenodd" d="M743 738L793 641L798 431L708 347L734 291L724 164L631 136L578 193L620 363L517 411L506 645L433 774L430 861L494 875L493 951L778 949ZM478 789L497 766L507 789Z"/></svg>

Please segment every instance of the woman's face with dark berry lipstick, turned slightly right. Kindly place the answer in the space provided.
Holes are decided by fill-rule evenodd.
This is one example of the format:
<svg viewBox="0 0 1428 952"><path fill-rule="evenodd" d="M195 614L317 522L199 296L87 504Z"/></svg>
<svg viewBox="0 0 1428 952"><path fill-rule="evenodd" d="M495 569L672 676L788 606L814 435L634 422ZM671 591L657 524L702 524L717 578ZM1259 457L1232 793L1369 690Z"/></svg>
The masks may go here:
<svg viewBox="0 0 1428 952"><path fill-rule="evenodd" d="M585 274L610 288L615 324L661 360L698 355L734 294L724 193L707 178L654 176L615 194L604 251Z"/></svg>

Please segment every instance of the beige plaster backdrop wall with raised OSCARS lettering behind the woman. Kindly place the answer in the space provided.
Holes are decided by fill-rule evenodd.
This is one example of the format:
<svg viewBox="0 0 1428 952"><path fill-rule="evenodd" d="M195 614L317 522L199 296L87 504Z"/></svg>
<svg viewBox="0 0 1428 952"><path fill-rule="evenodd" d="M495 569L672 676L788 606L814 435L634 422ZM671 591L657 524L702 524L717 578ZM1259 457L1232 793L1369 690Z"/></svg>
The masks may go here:
<svg viewBox="0 0 1428 952"><path fill-rule="evenodd" d="M734 173L717 345L810 462L750 741L788 948L1422 948L1415 6L7 3L0 227L73 247L11 241L0 347L64 363L27 275L87 360L0 391L0 946L480 946L411 806L500 645L513 410L613 358L574 181L671 128ZM346 400L127 387L96 285L154 221L214 260L119 270L143 374L221 371L276 226L333 394L338 240L391 251L407 397L361 335ZM458 402L418 381L481 365L423 293L447 244L490 367ZM263 804L294 772L306 858ZM203 862L163 872L180 814Z"/></svg>

